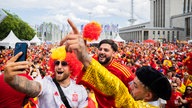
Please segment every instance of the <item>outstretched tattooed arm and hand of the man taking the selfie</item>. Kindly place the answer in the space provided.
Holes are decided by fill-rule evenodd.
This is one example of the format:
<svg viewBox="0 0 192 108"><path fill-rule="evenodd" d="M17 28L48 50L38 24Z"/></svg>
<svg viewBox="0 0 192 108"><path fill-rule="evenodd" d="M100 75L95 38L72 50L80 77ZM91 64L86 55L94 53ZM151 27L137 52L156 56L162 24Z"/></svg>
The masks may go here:
<svg viewBox="0 0 192 108"><path fill-rule="evenodd" d="M36 97L41 91L40 83L19 76L19 74L26 74L26 71L21 69L29 68L27 61L15 62L21 54L17 54L6 63L4 80L15 90L25 93L30 97Z"/></svg>

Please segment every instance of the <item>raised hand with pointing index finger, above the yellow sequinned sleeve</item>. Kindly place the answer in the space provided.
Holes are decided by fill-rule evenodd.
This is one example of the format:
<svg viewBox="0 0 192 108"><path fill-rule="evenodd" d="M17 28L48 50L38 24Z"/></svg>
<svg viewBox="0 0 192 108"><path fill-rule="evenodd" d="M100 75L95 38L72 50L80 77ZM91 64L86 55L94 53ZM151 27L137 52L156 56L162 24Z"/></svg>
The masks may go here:
<svg viewBox="0 0 192 108"><path fill-rule="evenodd" d="M88 55L83 36L79 33L77 27L73 24L71 20L68 19L67 21L72 28L72 32L61 40L60 45L65 45L68 52L74 51L77 58L84 65L87 65L87 62L90 61L90 57Z"/></svg>

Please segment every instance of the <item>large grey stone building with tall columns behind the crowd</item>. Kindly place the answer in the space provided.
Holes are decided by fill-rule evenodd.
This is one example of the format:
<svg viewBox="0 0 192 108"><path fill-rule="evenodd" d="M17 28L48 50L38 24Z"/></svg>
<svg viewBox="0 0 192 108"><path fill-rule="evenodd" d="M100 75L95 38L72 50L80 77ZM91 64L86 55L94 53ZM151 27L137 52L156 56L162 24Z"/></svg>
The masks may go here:
<svg viewBox="0 0 192 108"><path fill-rule="evenodd" d="M150 0L150 22L123 27L126 41L192 39L192 0Z"/></svg>

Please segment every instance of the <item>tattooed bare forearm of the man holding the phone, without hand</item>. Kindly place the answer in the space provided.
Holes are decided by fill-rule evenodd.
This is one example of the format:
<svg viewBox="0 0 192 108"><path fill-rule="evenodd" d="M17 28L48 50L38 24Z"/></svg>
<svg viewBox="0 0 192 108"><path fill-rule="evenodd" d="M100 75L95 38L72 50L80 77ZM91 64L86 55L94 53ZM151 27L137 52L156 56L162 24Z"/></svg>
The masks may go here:
<svg viewBox="0 0 192 108"><path fill-rule="evenodd" d="M41 84L37 81L28 80L26 77L15 76L14 80L9 83L11 87L27 94L30 97L36 97L41 91Z"/></svg>

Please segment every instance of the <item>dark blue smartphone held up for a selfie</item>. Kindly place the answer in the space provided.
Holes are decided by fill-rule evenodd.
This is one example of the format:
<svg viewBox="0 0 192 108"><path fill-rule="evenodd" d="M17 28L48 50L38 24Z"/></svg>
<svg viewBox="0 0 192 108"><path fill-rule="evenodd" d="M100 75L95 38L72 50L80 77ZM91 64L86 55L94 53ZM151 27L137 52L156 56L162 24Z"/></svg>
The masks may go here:
<svg viewBox="0 0 192 108"><path fill-rule="evenodd" d="M16 60L16 62L26 61L26 59L27 59L27 48L28 48L28 44L26 42L17 42L15 44L14 56L17 55L19 52L23 52L23 54Z"/></svg>

